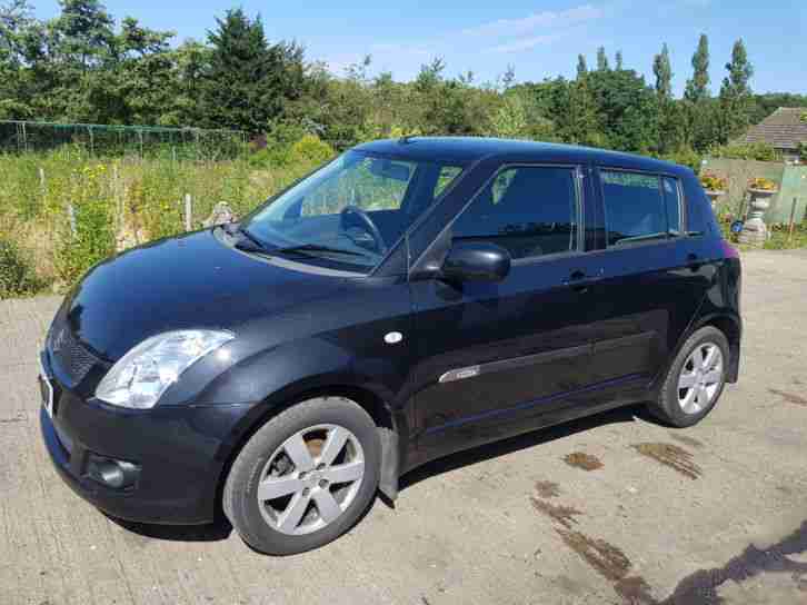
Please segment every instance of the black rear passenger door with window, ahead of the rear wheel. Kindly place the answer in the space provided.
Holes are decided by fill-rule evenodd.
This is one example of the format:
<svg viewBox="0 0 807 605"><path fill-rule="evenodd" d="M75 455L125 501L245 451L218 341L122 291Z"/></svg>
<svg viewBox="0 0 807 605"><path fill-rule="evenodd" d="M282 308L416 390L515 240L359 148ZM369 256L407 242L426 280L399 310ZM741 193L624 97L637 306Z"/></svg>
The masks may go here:
<svg viewBox="0 0 807 605"><path fill-rule="evenodd" d="M602 280L595 287L596 399L635 399L664 367L706 291L672 175L594 171Z"/></svg>

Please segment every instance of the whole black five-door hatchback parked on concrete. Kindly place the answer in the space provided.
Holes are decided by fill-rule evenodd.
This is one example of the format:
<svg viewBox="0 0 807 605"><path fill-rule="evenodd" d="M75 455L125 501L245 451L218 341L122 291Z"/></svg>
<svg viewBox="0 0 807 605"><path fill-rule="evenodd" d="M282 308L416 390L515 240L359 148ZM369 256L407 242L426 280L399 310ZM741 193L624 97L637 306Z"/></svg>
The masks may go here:
<svg viewBox="0 0 807 605"><path fill-rule="evenodd" d="M42 435L114 517L272 554L464 448L628 404L686 427L738 375L740 262L687 168L490 139L361 145L238 224L91 269Z"/></svg>

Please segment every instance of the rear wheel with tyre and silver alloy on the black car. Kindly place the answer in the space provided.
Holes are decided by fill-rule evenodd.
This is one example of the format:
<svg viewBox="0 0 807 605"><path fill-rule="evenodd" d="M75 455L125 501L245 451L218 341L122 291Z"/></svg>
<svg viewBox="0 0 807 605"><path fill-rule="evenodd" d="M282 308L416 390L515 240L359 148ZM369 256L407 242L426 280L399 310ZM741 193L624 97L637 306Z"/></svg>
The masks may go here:
<svg viewBox="0 0 807 605"><path fill-rule="evenodd" d="M696 425L720 398L728 364L728 340L720 330L707 326L695 331L670 365L650 411L679 428Z"/></svg>

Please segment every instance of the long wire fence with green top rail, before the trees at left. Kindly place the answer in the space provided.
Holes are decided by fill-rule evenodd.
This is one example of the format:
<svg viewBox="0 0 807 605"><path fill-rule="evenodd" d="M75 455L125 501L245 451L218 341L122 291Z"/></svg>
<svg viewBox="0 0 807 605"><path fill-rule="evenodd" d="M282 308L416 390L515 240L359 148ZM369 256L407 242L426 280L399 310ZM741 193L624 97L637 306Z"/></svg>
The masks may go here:
<svg viewBox="0 0 807 605"><path fill-rule="evenodd" d="M240 130L0 120L0 153L78 151L90 156L233 159L247 150Z"/></svg>

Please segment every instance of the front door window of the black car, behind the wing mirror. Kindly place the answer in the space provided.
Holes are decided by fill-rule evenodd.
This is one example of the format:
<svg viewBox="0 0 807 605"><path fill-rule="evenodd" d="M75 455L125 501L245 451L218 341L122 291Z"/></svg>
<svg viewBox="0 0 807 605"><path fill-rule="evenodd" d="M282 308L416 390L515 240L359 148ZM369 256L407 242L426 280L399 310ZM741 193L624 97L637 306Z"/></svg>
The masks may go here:
<svg viewBox="0 0 807 605"><path fill-rule="evenodd" d="M500 171L452 227L455 241L489 241L514 260L576 249L578 216L572 168Z"/></svg>

